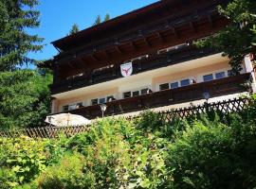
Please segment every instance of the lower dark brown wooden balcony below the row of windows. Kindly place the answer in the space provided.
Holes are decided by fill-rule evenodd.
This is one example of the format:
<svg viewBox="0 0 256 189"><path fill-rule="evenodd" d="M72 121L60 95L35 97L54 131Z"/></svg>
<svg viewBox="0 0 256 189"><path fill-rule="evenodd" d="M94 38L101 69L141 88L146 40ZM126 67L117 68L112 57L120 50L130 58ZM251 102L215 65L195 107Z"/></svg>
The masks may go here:
<svg viewBox="0 0 256 189"><path fill-rule="evenodd" d="M225 77L208 82L192 84L186 87L155 92L152 94L143 94L136 97L115 100L106 103L107 110L105 115L136 112L148 108L190 102L193 100L203 99L203 94L206 92L210 94L210 97L246 92L247 89L243 84L249 78L249 74L242 74L239 76ZM70 111L70 113L80 114L88 119L94 119L101 116L101 108L100 105L95 105Z"/></svg>

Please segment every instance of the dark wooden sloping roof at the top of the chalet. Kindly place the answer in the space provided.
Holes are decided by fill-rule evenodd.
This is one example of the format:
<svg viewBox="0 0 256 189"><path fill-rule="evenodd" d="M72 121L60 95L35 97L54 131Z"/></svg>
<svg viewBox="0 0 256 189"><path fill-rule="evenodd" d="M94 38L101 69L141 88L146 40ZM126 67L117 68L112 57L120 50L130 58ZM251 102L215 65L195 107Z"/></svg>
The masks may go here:
<svg viewBox="0 0 256 189"><path fill-rule="evenodd" d="M107 22L103 22L97 26L91 26L71 36L64 37L60 40L52 42L52 44L62 51L80 47L87 43L95 43L103 39L113 37L116 34L129 30L131 28L147 25L166 17L179 13L180 10L190 9L190 7L198 4L209 4L223 2L224 0L162 0L147 7L136 9ZM196 9L194 9L196 11Z"/></svg>

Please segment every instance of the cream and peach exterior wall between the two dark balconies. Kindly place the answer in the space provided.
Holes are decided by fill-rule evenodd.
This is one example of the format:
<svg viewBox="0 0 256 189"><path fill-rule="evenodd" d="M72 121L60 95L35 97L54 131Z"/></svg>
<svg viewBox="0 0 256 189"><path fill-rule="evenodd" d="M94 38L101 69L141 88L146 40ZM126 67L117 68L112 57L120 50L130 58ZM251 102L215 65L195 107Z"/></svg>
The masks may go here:
<svg viewBox="0 0 256 189"><path fill-rule="evenodd" d="M243 72L245 65L243 64ZM221 57L221 54L213 55L198 60L190 60L174 64L164 68L158 68L149 72L140 73L131 77L123 77L116 80L99 83L78 91L73 90L54 96L54 109L52 113L62 112L63 106L82 102L83 106L90 106L91 99L107 95L114 95L121 99L123 93L143 88L150 88L153 92L158 91L159 84L173 82L180 79L192 78L196 82L202 82L203 76L230 70L229 60Z"/></svg>

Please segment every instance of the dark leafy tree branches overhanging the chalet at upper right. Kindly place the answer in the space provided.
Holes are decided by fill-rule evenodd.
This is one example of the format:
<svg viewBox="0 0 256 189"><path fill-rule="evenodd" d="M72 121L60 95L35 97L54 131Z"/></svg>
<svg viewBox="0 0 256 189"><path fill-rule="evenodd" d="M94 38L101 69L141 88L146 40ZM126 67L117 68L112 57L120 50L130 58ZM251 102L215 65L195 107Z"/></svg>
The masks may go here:
<svg viewBox="0 0 256 189"><path fill-rule="evenodd" d="M255 0L233 0L227 7L218 7L219 12L229 19L229 26L217 32L213 36L197 43L198 46L208 46L224 52L229 57L229 63L234 74L238 74L241 62L248 53L255 53L252 45L253 30L256 23ZM255 34L254 34L255 36Z"/></svg>

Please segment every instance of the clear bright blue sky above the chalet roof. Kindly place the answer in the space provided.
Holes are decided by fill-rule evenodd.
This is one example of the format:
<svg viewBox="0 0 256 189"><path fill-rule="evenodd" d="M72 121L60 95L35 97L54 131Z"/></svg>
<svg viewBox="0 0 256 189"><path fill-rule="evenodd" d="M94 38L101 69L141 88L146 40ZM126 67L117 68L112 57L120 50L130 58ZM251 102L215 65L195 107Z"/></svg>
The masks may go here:
<svg viewBox="0 0 256 189"><path fill-rule="evenodd" d="M41 26L29 29L32 34L45 38L42 52L29 53L30 58L47 60L57 51L50 44L66 36L71 26L76 23L80 29L91 26L98 14L101 18L109 13L111 18L139 9L157 0L40 0L36 8L41 12Z"/></svg>

